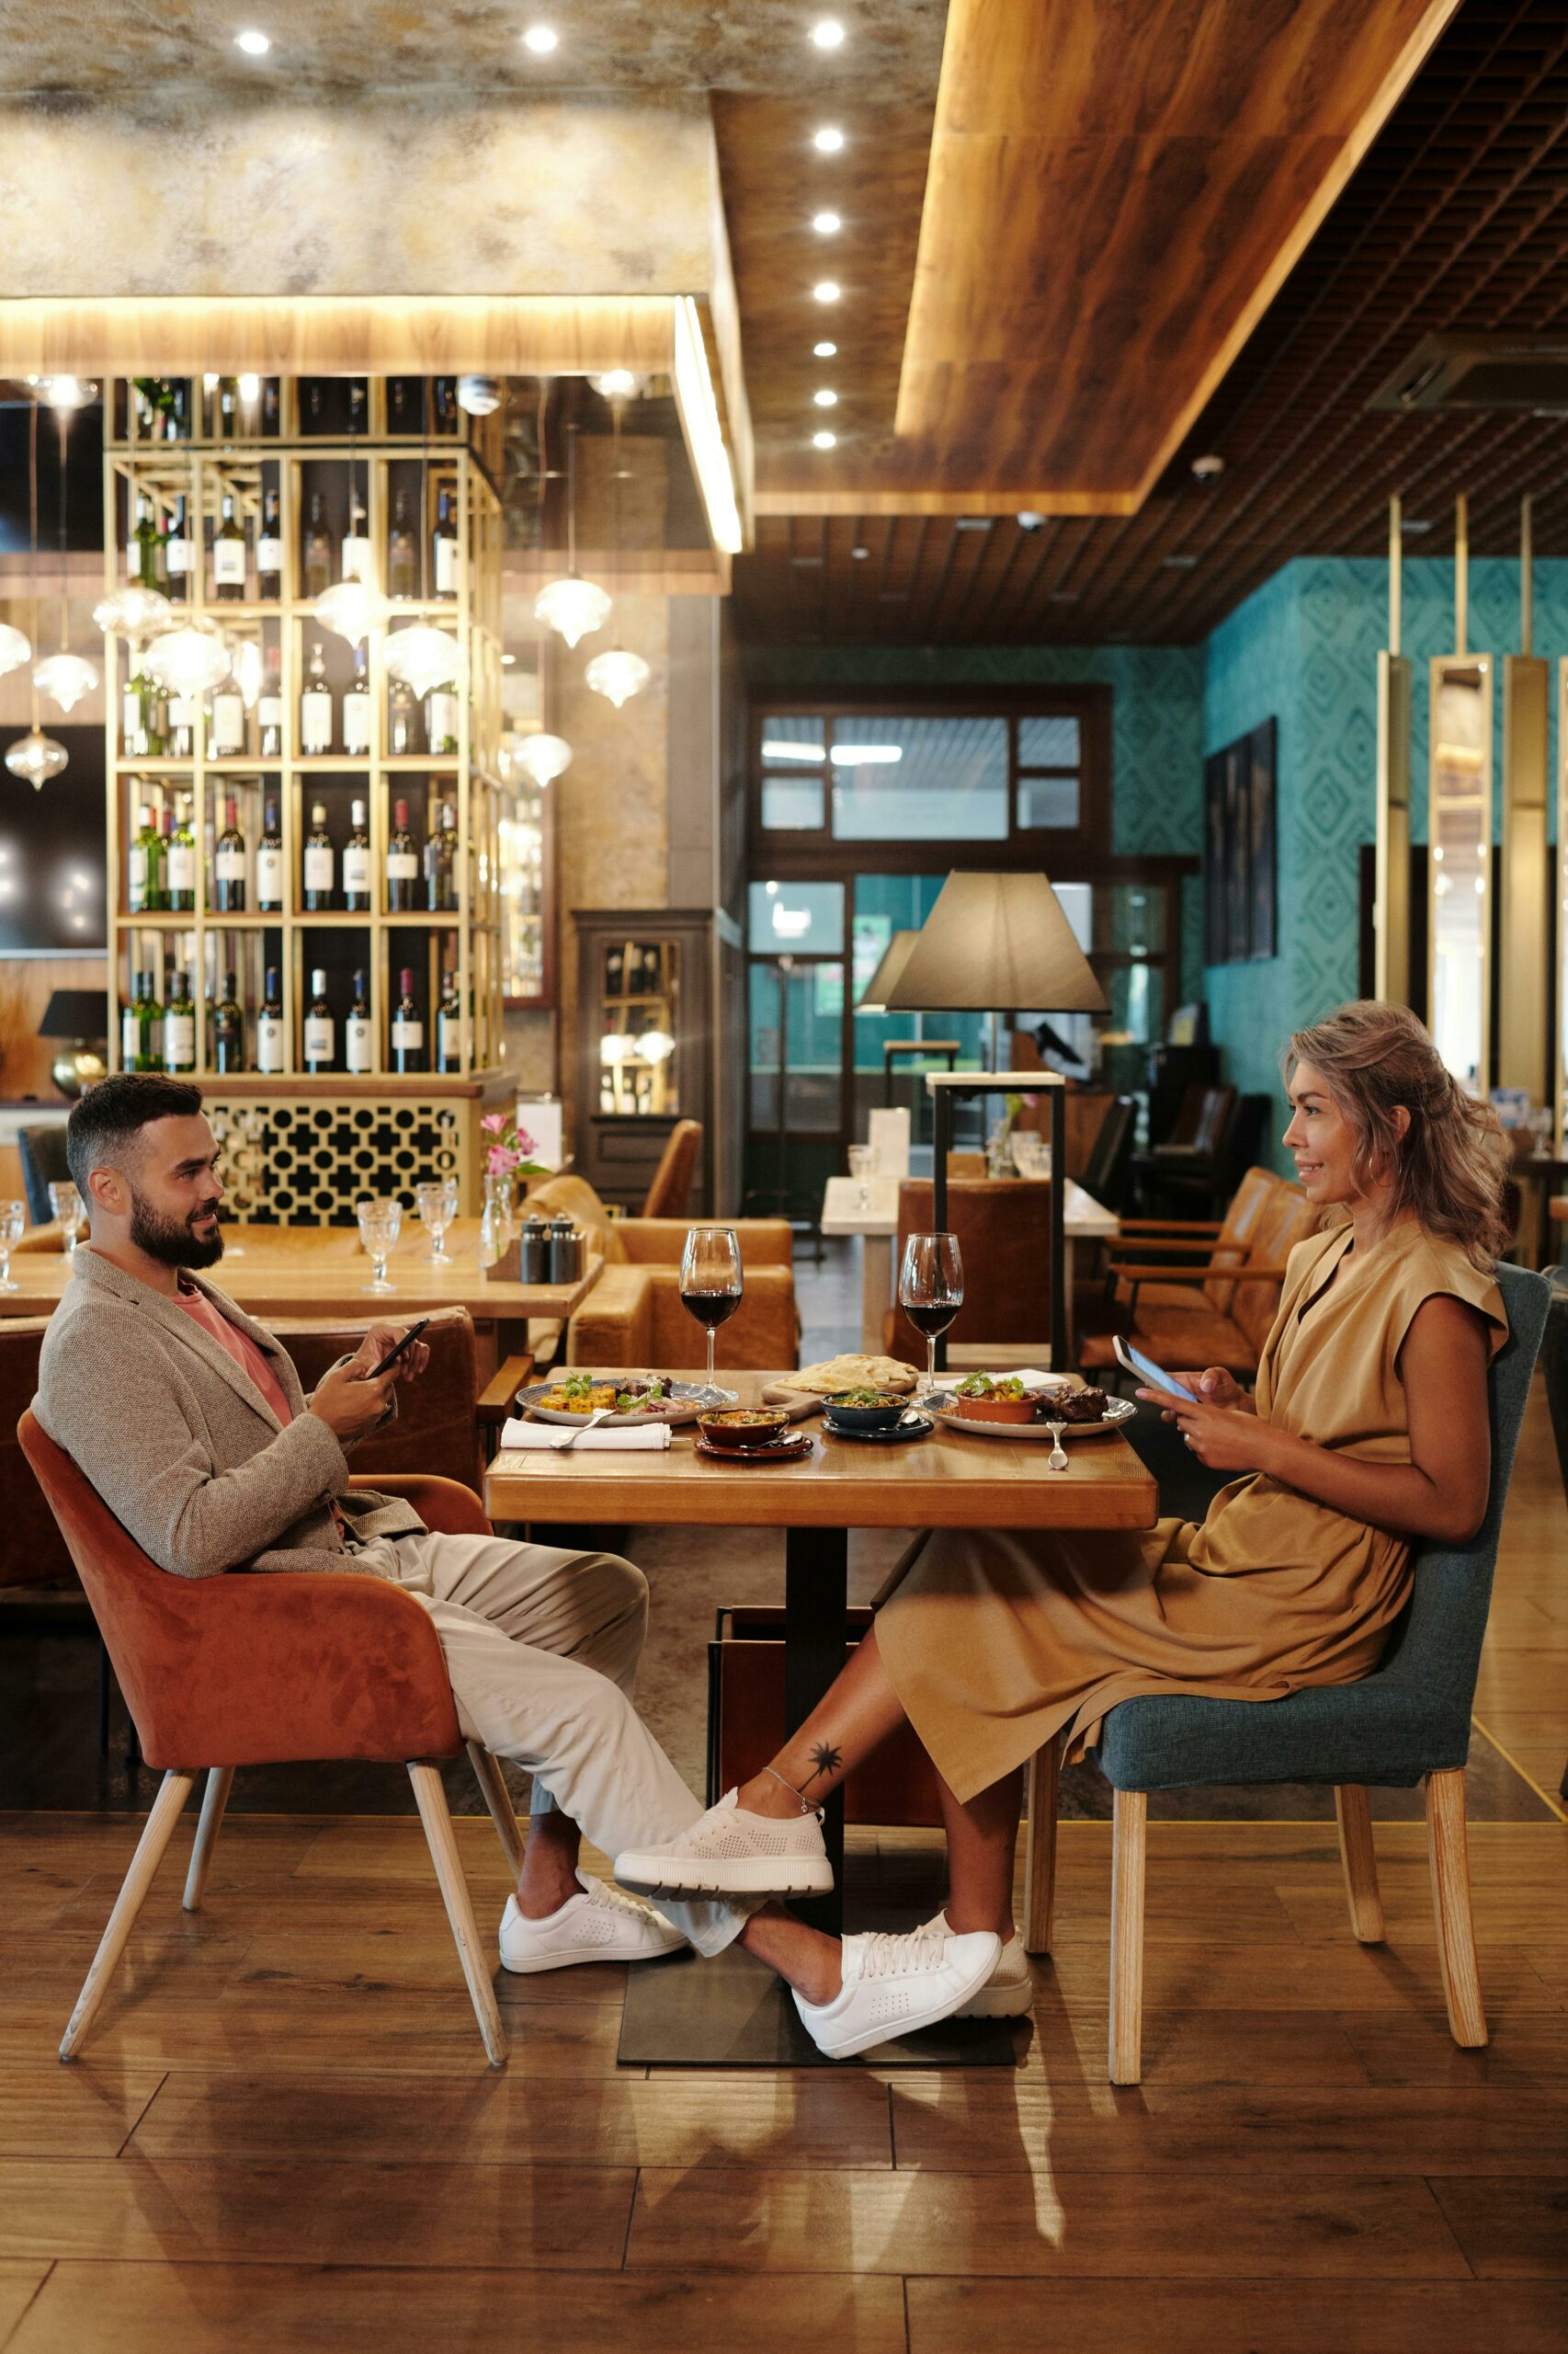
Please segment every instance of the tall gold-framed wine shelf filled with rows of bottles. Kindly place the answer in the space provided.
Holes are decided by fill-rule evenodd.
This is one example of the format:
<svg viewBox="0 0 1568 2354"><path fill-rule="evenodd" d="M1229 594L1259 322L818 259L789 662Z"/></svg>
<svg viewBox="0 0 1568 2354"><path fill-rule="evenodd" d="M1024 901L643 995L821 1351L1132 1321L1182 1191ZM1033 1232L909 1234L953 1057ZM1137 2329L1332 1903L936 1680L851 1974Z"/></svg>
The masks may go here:
<svg viewBox="0 0 1568 2354"><path fill-rule="evenodd" d="M226 384L231 379L224 379ZM391 1052L391 1015L398 1003L398 972L412 967L414 998L424 1022L424 1059L431 1095L447 1083L499 1078L501 1057L501 859L499 829L513 796L499 779L501 737L501 504L487 457L499 435L471 433L469 419L445 403L431 428L421 417L438 407L438 388L417 379L403 386L412 431L388 426L393 388L386 379L358 379L363 388L363 431L304 431L304 391L297 379L268 379L264 395L233 400L233 414L221 412L217 386L207 379L186 384L186 426L179 438L148 431L146 403L134 384L111 386L113 438L104 447L104 577L115 591L134 572L127 567L139 501L148 499L153 525L167 551L177 504L184 504L191 544L191 570L184 596L177 596L179 619L217 621L245 666L245 737L242 753L210 758L212 697L195 697L195 734L188 758L167 751L127 749L125 697L132 687L137 647L122 636L106 638L106 734L108 734L108 1040L111 1066L120 1069L120 1015L132 998L134 975L153 972L153 993L167 1005L177 970L188 972L195 1012L195 1069L200 1083L228 1085L233 1073L219 1073L212 1062L212 1010L224 993L224 979L235 975L245 1012L247 1088L294 1095L299 1085L320 1078L337 1088L388 1085L400 1092ZM344 405L344 384L327 386L330 410ZM457 424L450 424L454 419ZM499 424L494 419L492 424ZM461 426L464 431L457 431ZM360 577L388 596L388 539L398 499L412 527L417 596L398 596L388 629L372 631L365 645L365 680L370 687L370 744L365 751L306 753L301 749L301 690L313 645L320 640L332 687L332 742L344 742L344 685L353 669L348 643L330 633L313 614L318 588L306 596L304 537L311 499L320 494L323 520L332 546L330 579L341 579L341 539L351 513L351 483L363 506L367 560ZM264 497L275 492L280 539L278 596L259 591L259 539ZM447 494L457 527L452 593L436 588L436 513ZM214 593L214 537L224 511L245 530L245 596ZM273 537L273 534L268 534ZM170 593L167 577L158 586ZM466 687L457 699L454 753L393 753L386 671L388 631L410 621L433 621L450 631L466 666ZM254 650L254 652L252 652ZM268 671L268 657L273 669ZM283 730L275 751L261 753L259 697L275 692L283 706ZM250 749L254 746L254 749ZM224 829L224 803L233 798L247 847L245 913L217 906L214 840ZM386 855L396 800L410 800L414 850L433 826L433 810L450 803L457 819L457 855L452 859L454 906L431 911L424 904L424 859L417 909L386 904ZM195 906L181 911L132 909L132 840L137 812L155 812L174 803L188 807L195 840ZM311 805L327 805L334 845L334 890L341 899L341 855L348 833L351 800L363 800L370 836L370 909L308 911L304 906L304 845L311 829ZM285 892L280 909L257 909L257 843L261 812L273 805L283 838ZM268 965L280 970L283 1036L287 1069L257 1073L257 1015ZM311 967L330 970L330 998L337 1022L337 1069L311 1076L304 1071L304 1015L311 998ZM348 1010L346 975L365 970L370 1000L372 1064L367 1073L344 1071L344 1031ZM443 972L457 982L461 1010L461 1062L438 1073L438 1000Z"/></svg>

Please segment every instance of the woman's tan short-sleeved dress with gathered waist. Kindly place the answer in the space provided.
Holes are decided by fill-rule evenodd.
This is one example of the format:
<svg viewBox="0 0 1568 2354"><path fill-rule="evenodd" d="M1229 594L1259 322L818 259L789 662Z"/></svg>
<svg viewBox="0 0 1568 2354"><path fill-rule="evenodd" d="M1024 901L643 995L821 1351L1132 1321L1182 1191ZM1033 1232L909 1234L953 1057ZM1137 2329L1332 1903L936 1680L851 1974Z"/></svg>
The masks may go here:
<svg viewBox="0 0 1568 2354"><path fill-rule="evenodd" d="M1398 1349L1439 1292L1479 1309L1502 1346L1502 1292L1455 1243L1413 1222L1368 1250L1351 1250L1349 1226L1297 1243L1257 1412L1361 1462L1408 1464ZM972 1798L1062 1728L1081 1756L1107 1709L1140 1693L1281 1700L1354 1683L1408 1591L1403 1537L1248 1474L1203 1523L935 1530L876 1638L944 1782Z"/></svg>

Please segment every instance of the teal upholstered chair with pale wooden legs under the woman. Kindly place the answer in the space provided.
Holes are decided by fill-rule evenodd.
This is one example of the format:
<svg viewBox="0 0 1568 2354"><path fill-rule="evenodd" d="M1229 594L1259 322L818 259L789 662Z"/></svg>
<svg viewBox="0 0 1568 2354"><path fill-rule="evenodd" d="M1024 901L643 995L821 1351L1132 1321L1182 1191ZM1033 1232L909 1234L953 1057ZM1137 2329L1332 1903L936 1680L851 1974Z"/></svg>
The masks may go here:
<svg viewBox="0 0 1568 2354"><path fill-rule="evenodd" d="M1361 1683L1328 1683L1288 1700L1123 1700L1104 1721L1099 1770L1116 1791L1111 1834L1111 2083L1140 2079L1144 1961L1144 1827L1151 1789L1227 1782L1333 1782L1351 1928L1382 1940L1368 1784L1427 1794L1427 1850L1443 2001L1455 2043L1486 2043L1464 1857L1464 1758L1481 1641L1549 1288L1500 1266L1509 1337L1488 1377L1493 1485L1469 1544L1415 1549L1415 1589L1389 1645ZM1055 1744L1029 1775L1024 1944L1050 1951Z"/></svg>

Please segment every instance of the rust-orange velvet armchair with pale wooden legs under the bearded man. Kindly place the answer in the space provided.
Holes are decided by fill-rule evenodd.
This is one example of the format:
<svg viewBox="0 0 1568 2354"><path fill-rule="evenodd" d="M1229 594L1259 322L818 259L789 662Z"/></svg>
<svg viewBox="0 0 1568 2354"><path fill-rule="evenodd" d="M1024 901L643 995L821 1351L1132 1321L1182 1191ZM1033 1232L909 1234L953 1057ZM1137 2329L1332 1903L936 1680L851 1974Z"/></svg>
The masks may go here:
<svg viewBox="0 0 1568 2354"><path fill-rule="evenodd" d="M202 1768L207 1787L186 1874L186 1911L200 1907L238 1766L379 1758L407 1766L485 2053L499 2067L506 2034L433 1763L457 1756L464 1740L440 1638L414 1596L379 1577L334 1570L170 1577L132 1542L31 1408L16 1436L75 1561L141 1754L148 1766L162 1768L146 1829L71 2013L61 2060L75 2055L92 2027ZM407 1495L428 1528L490 1532L478 1497L457 1481L381 1474L356 1485ZM478 1742L469 1742L469 1758L516 1871L523 1836L501 1770Z"/></svg>

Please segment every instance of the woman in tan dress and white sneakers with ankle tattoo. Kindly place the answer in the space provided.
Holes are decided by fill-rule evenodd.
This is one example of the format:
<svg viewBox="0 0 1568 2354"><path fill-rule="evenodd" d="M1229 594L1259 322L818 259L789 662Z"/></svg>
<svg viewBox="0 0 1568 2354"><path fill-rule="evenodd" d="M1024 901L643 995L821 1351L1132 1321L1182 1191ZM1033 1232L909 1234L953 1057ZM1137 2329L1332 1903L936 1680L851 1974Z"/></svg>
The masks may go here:
<svg viewBox="0 0 1568 2354"><path fill-rule="evenodd" d="M1403 1610L1410 1540L1457 1544L1481 1525L1486 1370L1507 1337L1497 1118L1398 1005L1342 1005L1297 1031L1283 1066L1285 1146L1335 1217L1290 1252L1257 1391L1217 1368L1180 1375L1191 1405L1137 1391L1198 1462L1238 1474L1203 1523L935 1532L772 1766L669 1850L617 1864L640 1883L744 1888L739 1855L779 1838L805 1855L826 1791L909 1718L942 1777L946 1914L909 1940L841 1949L770 1907L742 1940L791 1982L824 2048L878 2041L895 1977L913 2010L944 2006L923 2022L1029 2008L1012 1853L1017 1768L1043 1742L1067 1733L1081 1756L1107 1709L1140 1693L1278 1700L1351 1683Z"/></svg>

